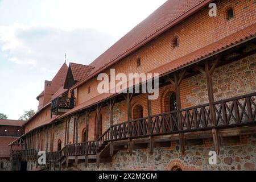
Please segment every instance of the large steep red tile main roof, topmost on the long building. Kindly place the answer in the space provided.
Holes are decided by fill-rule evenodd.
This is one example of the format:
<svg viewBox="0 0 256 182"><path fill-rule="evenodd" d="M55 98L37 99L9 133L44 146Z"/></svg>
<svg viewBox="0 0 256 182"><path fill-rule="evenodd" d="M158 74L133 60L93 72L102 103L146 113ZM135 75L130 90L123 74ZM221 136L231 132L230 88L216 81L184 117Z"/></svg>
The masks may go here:
<svg viewBox="0 0 256 182"><path fill-rule="evenodd" d="M156 36L180 23L188 16L207 6L213 0L169 0L159 7L154 13L144 19L136 27L118 40L112 47L102 53L90 66L95 69L86 77L74 85L71 89L96 76L98 73L109 68L117 61L123 59L136 49L150 42Z"/></svg>

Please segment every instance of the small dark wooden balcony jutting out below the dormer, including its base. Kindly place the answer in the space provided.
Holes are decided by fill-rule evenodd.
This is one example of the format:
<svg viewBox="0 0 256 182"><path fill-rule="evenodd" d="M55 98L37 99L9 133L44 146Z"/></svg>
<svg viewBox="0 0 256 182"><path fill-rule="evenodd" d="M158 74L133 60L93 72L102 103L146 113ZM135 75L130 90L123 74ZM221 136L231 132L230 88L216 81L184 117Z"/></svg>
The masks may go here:
<svg viewBox="0 0 256 182"><path fill-rule="evenodd" d="M75 106L74 98L57 97L52 101L51 115L59 115L66 113L68 110L73 109Z"/></svg>

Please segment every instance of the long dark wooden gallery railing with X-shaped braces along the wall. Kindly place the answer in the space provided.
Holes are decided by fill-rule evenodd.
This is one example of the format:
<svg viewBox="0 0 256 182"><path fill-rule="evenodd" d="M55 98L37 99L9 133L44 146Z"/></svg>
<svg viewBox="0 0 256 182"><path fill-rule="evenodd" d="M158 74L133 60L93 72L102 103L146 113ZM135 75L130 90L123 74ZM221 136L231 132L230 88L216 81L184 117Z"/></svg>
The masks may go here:
<svg viewBox="0 0 256 182"><path fill-rule="evenodd" d="M205 104L118 123L106 130L96 141L68 144L60 154L50 153L49 155L54 155L53 159L55 156L62 158L64 156L95 155L97 150L109 141L256 123L255 102L256 93L252 93L213 102L211 104L213 115L210 113L210 104ZM178 117L179 115L180 117ZM181 118L180 121L178 118ZM52 158L49 157L49 159Z"/></svg>

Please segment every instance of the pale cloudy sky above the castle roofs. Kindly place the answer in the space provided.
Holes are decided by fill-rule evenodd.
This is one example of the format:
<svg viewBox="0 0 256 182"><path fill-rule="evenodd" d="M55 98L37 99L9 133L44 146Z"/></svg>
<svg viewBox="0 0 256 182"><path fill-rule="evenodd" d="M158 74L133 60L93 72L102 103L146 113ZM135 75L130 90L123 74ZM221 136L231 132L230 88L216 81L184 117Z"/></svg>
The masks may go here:
<svg viewBox="0 0 256 182"><path fill-rule="evenodd" d="M0 113L37 110L44 80L90 64L167 0L0 0Z"/></svg>

